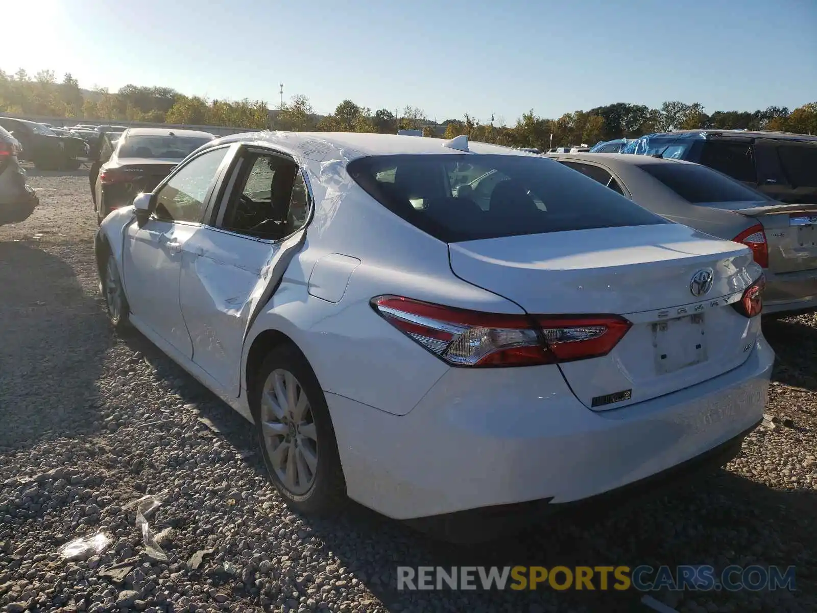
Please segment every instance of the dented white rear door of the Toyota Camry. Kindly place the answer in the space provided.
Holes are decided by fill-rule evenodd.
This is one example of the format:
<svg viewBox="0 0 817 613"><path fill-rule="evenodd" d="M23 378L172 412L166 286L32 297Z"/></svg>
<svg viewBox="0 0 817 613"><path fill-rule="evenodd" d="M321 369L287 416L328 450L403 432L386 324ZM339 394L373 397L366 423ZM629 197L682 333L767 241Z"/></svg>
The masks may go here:
<svg viewBox="0 0 817 613"><path fill-rule="evenodd" d="M226 230L199 230L184 246L181 312L193 342L193 361L239 396L243 341L252 320L278 287L306 235L253 239Z"/></svg>

